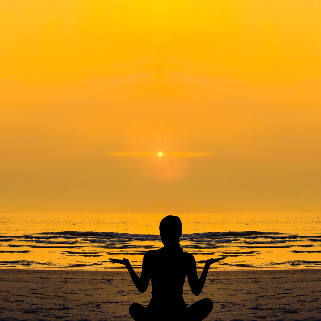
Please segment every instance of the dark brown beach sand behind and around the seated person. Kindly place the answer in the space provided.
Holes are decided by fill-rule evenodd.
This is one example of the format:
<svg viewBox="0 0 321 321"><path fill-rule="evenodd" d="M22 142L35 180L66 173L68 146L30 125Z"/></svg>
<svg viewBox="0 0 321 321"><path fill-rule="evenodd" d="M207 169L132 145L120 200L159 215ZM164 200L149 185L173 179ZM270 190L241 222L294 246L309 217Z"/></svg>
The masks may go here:
<svg viewBox="0 0 321 321"><path fill-rule="evenodd" d="M117 271L0 270L0 320L131 320L133 302L147 305L128 273ZM211 271L194 296L211 298L214 320L321 320L321 270Z"/></svg>

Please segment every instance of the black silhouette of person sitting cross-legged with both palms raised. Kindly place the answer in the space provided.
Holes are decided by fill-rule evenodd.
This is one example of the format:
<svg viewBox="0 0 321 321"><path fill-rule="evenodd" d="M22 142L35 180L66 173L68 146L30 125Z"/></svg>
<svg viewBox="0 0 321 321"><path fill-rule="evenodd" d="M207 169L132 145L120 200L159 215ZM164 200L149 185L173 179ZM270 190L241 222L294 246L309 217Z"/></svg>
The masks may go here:
<svg viewBox="0 0 321 321"><path fill-rule="evenodd" d="M203 289L211 264L224 259L206 260L200 278L196 272L196 262L192 254L183 252L179 238L182 236L182 222L178 216L166 216L160 222L160 237L164 247L147 251L143 258L140 278L129 261L110 259L124 264L132 280L141 293L152 282L152 298L145 308L139 303L129 307L129 314L135 321L201 321L213 309L211 299L202 299L187 308L183 299L183 285L187 276L188 284L195 295Z"/></svg>

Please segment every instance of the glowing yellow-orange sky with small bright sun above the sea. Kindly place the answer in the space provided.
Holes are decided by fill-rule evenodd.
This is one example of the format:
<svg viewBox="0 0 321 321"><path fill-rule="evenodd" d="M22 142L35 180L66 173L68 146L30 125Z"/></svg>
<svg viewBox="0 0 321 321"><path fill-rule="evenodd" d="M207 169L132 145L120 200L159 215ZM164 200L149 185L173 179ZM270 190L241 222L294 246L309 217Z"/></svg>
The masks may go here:
<svg viewBox="0 0 321 321"><path fill-rule="evenodd" d="M320 16L318 0L1 1L1 210L321 210Z"/></svg>

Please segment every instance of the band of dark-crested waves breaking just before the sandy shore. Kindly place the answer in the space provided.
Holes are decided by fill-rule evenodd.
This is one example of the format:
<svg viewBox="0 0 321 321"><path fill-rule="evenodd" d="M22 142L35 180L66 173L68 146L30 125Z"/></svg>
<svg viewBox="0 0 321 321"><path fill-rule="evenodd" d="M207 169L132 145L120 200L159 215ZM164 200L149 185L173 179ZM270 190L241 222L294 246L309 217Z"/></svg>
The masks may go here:
<svg viewBox="0 0 321 321"><path fill-rule="evenodd" d="M204 232L183 234L180 245L184 251L195 255L198 266L203 265L211 256L226 256L224 261L213 266L224 269L317 267L321 264L320 235L303 236L265 231ZM139 268L142 255L150 249L160 247L160 236L154 234L54 231L3 235L0 236L0 253L4 259L0 261L0 265L121 269L122 266L110 262L108 258L126 256L133 266ZM52 262L41 262L42 257L50 257Z"/></svg>

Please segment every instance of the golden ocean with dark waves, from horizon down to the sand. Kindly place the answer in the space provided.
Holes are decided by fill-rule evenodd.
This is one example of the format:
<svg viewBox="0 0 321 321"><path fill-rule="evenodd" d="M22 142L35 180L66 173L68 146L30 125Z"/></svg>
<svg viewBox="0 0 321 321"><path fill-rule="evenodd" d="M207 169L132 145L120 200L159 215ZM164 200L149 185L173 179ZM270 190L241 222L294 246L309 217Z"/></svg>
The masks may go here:
<svg viewBox="0 0 321 321"><path fill-rule="evenodd" d="M143 254L162 247L155 213L1 213L0 267L121 270L108 258L126 257L139 269ZM181 218L180 245L211 269L321 266L319 213L173 213Z"/></svg>

